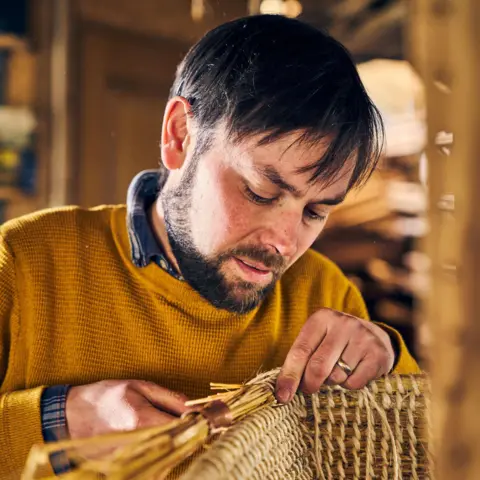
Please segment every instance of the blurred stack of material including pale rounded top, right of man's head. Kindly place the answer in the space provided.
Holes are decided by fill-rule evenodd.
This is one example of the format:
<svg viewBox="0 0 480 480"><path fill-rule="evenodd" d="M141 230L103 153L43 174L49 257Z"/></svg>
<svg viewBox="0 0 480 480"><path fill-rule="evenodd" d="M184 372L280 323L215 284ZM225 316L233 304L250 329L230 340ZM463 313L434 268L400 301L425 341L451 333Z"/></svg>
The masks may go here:
<svg viewBox="0 0 480 480"><path fill-rule="evenodd" d="M415 307L428 292L429 269L418 252L428 233L423 87L407 62L374 60L358 70L385 122L384 158L331 215L314 248L339 264L372 318L399 329L418 357Z"/></svg>

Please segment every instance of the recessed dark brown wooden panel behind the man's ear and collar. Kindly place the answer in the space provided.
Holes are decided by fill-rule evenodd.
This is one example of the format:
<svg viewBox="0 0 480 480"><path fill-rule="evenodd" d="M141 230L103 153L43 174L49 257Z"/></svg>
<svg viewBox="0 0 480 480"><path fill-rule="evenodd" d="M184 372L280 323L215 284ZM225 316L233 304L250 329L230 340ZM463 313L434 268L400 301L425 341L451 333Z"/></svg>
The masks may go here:
<svg viewBox="0 0 480 480"><path fill-rule="evenodd" d="M158 166L163 110L187 48L84 25L74 203L124 203L133 176Z"/></svg>

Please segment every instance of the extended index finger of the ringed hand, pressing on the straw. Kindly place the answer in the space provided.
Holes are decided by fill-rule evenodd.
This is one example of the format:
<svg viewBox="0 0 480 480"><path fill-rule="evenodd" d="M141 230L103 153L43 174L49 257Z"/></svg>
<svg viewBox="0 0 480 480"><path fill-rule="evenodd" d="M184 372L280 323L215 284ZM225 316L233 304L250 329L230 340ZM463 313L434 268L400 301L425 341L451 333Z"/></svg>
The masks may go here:
<svg viewBox="0 0 480 480"><path fill-rule="evenodd" d="M275 394L280 403L287 403L293 398L310 356L326 334L326 325L327 322L310 317L300 330L277 378Z"/></svg>

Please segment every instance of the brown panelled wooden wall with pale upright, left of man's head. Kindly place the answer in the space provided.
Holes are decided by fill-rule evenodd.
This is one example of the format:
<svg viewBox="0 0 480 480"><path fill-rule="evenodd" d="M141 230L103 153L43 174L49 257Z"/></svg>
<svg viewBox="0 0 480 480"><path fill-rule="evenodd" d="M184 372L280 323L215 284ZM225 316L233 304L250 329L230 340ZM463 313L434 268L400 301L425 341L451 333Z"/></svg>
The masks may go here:
<svg viewBox="0 0 480 480"><path fill-rule="evenodd" d="M131 178L159 162L176 66L215 25L245 15L242 0L191 18L189 0L53 0L49 205L125 201Z"/></svg>

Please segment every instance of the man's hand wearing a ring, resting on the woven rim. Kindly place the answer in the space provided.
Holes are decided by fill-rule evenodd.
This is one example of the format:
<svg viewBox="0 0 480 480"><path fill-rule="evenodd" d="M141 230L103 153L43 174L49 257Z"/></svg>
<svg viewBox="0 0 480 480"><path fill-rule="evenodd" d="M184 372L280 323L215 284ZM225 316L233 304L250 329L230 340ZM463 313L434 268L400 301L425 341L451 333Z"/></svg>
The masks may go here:
<svg viewBox="0 0 480 480"><path fill-rule="evenodd" d="M336 363L351 369L347 375ZM298 387L317 392L323 383L349 389L364 387L393 368L390 337L372 322L335 310L314 313L302 327L277 379L277 400L286 403Z"/></svg>

